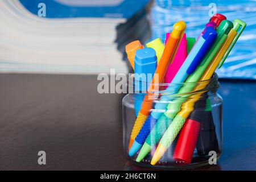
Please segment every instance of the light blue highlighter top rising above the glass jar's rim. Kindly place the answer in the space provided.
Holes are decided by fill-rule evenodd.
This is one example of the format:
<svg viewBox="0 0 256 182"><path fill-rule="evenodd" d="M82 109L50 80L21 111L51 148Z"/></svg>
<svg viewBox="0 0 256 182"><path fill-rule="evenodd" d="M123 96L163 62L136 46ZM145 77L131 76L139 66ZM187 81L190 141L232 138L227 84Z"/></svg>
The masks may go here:
<svg viewBox="0 0 256 182"><path fill-rule="evenodd" d="M152 48L138 49L134 59L134 73L155 73L157 64L156 52Z"/></svg>

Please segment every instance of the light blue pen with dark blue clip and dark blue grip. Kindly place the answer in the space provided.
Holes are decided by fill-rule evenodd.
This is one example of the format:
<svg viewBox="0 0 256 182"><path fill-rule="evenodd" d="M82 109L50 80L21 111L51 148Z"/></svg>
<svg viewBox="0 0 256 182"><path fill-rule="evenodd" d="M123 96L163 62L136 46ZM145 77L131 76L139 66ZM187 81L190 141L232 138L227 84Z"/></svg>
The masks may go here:
<svg viewBox="0 0 256 182"><path fill-rule="evenodd" d="M207 53L210 46L216 39L217 33L212 27L208 27L204 35L199 39L195 44L195 47L189 53L188 57L185 59L184 63L181 65L179 71L176 73L171 84L184 82L189 74L195 71L197 65L200 64L200 61L203 59L204 55ZM170 38L169 38L170 39ZM169 40L168 39L168 40ZM168 94L175 94L180 89L181 85L170 85L166 88ZM133 146L130 148L129 155L133 156L135 152L141 148L142 144L146 140L148 134L150 133L151 128L155 125L156 121L160 118L160 115L163 114L163 111L166 110L168 105L168 95L163 95L160 97L160 101L156 102L155 109L151 112L150 116L147 118L146 122L142 126L141 131L135 138Z"/></svg>

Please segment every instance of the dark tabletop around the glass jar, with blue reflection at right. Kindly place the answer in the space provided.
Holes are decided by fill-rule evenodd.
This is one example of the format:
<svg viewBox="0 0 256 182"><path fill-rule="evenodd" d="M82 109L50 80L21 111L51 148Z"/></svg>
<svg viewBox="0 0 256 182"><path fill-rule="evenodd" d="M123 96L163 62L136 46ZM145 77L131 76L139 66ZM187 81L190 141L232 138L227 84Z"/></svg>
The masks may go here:
<svg viewBox="0 0 256 182"><path fill-rule="evenodd" d="M220 83L224 152L199 169L256 170L256 82ZM99 94L97 84L93 75L0 74L0 170L144 169L123 155L123 94Z"/></svg>

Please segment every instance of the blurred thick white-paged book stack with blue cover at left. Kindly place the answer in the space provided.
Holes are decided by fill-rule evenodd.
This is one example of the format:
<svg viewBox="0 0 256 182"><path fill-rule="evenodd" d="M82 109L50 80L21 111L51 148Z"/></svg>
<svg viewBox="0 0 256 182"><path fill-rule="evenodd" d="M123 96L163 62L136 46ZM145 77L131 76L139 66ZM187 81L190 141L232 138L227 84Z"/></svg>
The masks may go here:
<svg viewBox="0 0 256 182"><path fill-rule="evenodd" d="M149 3L2 0L0 72L126 73L125 45L150 37Z"/></svg>

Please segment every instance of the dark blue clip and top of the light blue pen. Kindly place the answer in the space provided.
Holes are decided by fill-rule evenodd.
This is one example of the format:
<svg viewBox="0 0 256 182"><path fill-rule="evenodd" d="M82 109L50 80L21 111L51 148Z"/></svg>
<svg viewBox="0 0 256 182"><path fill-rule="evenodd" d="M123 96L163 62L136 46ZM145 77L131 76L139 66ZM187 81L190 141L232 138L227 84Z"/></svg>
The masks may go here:
<svg viewBox="0 0 256 182"><path fill-rule="evenodd" d="M205 29L204 34L201 38L205 39L203 46L200 48L199 52L197 53L195 59L192 61L191 65L189 65L187 69L187 74L190 75L196 69L196 67L200 64L201 60L203 60L204 55L207 53L210 46L212 46L214 40L217 37L217 32L214 30L213 27L207 27Z"/></svg>

